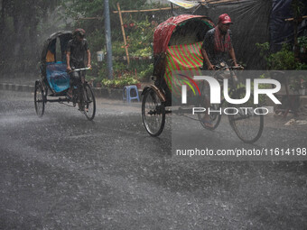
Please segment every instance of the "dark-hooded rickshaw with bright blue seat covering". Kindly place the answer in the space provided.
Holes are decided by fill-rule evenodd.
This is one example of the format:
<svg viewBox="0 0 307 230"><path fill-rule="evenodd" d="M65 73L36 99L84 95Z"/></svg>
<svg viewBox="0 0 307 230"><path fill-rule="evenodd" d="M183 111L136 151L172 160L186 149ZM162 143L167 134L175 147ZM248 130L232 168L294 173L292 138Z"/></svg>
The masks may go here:
<svg viewBox="0 0 307 230"><path fill-rule="evenodd" d="M66 94L70 88L70 74L66 71L66 50L72 32L55 32L44 42L41 59L41 79L35 81L34 105L36 114L42 117L47 102L58 102L66 106L78 105L79 111L84 113L88 120L93 120L96 113L96 101L88 82L79 83L73 87L72 98ZM72 69L73 71L85 71ZM48 97L53 97L49 99ZM56 98L55 98L56 97ZM70 105L72 103L72 105Z"/></svg>

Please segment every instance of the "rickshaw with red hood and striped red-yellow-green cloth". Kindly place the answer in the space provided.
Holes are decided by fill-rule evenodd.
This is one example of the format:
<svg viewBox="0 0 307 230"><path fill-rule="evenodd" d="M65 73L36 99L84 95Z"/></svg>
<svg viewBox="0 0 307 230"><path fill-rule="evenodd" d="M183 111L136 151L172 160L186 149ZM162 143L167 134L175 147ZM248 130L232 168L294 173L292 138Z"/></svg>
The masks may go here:
<svg viewBox="0 0 307 230"><path fill-rule="evenodd" d="M176 71L188 70L194 76L201 75L203 58L200 49L206 32L213 27L214 23L206 16L181 14L159 24L154 31L154 75L152 77L154 84L144 87L142 92L142 119L145 130L150 135L158 136L163 132L165 115L191 113L191 108L172 109L172 106L181 106L182 84L189 85L190 91L194 93L205 90L204 83L198 87L192 80L192 76L176 74ZM240 99L245 96L246 91L242 85L238 87L235 80L237 78L235 71L240 67L220 63L219 68L212 71L214 72L213 77L218 78L219 74L227 68L231 72L229 95ZM194 105L204 106L206 99L204 97L198 97ZM220 104L212 104L209 107L212 110L219 110L225 104L227 102L223 99ZM232 113L231 109L228 111L228 120L237 136L245 143L255 143L263 132L263 114L256 114L250 110L243 113L244 111L237 105L227 104L227 106L233 110ZM250 100L246 105L240 106L255 107ZM209 115L213 127L205 125L203 116L203 114L198 114L197 120L204 128L212 131L218 127L221 114Z"/></svg>

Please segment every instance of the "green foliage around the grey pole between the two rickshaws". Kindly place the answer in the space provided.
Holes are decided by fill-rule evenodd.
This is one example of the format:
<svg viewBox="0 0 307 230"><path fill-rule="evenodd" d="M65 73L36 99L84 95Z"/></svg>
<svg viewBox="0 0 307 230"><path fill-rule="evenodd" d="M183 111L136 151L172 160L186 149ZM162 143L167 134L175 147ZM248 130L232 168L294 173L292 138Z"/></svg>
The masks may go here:
<svg viewBox="0 0 307 230"><path fill-rule="evenodd" d="M154 28L158 22L154 21L153 13L135 13L122 14L123 24L126 32L127 48L130 56L130 65L127 66L125 43L119 22L118 14L113 11L117 10L116 3L120 4L121 10L135 10L135 9L150 9L161 7L159 4L148 4L145 0L135 1L109 1L110 5L110 20L111 20L111 34L112 34L112 55L113 60L113 76L116 78L114 82L110 83L107 79L106 61L97 62L96 52L106 51L105 48L105 31L104 19L98 20L77 20L81 17L103 17L104 1L103 0L74 0L73 4L66 2L67 17L73 18L75 21L71 23L72 27L84 28L87 32L87 39L92 53L92 67L91 76L97 76L95 82L106 83L106 86L116 87L118 85L118 78L123 76L137 76L140 80L146 80L153 74L152 60L135 60L134 57L149 57L153 56L153 37ZM159 14L159 13L155 13ZM163 18L162 18L163 19ZM145 58L144 58L145 59ZM89 74L89 73L88 73ZM121 80L124 81L125 80Z"/></svg>

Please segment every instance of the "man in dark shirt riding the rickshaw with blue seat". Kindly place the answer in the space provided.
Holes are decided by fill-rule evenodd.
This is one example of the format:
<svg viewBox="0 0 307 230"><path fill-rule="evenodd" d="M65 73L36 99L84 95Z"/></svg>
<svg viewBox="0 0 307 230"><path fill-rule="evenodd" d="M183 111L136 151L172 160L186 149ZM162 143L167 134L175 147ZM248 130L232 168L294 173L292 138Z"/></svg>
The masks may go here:
<svg viewBox="0 0 307 230"><path fill-rule="evenodd" d="M86 67L86 56L88 56L88 68L90 65L90 51L88 49L88 41L84 38L85 31L77 29L72 33L72 40L69 41L66 52L67 70L70 71L70 89L67 93L68 97L72 97L72 87L81 78L84 83L85 72L71 72L71 69L80 69Z"/></svg>

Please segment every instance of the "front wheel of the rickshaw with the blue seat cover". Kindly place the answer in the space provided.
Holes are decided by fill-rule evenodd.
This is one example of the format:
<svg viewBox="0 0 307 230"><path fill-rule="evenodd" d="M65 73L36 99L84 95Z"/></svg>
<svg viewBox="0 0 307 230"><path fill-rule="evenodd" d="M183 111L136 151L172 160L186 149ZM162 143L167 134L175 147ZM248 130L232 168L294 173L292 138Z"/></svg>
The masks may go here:
<svg viewBox="0 0 307 230"><path fill-rule="evenodd" d="M83 87L83 99L84 99L84 114L89 121L92 121L96 114L96 99L93 90L88 84Z"/></svg>

